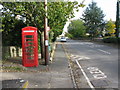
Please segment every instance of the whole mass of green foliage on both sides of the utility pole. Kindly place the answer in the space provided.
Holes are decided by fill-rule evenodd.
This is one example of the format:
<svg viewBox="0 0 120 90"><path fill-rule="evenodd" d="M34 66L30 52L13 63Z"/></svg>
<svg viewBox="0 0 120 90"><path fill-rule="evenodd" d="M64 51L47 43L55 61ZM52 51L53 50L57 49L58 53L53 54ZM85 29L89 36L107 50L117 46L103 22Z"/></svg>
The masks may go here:
<svg viewBox="0 0 120 90"><path fill-rule="evenodd" d="M21 45L21 28L25 26L37 27L40 32L44 30L44 2L2 2L1 5L4 45ZM77 2L48 3L48 25L54 33L53 39L62 33L67 19L74 17L73 9L78 7Z"/></svg>

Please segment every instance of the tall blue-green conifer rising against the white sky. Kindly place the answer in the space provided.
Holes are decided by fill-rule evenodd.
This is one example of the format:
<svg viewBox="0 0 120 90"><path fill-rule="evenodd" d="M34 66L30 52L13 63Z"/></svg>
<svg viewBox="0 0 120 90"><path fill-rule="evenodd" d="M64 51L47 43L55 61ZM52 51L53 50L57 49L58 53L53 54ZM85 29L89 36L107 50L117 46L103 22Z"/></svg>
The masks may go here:
<svg viewBox="0 0 120 90"><path fill-rule="evenodd" d="M98 28L104 23L104 14L101 8L97 7L96 2L92 2L86 8L82 14L85 26L87 26L86 31L91 35L91 37L96 37L98 35Z"/></svg>

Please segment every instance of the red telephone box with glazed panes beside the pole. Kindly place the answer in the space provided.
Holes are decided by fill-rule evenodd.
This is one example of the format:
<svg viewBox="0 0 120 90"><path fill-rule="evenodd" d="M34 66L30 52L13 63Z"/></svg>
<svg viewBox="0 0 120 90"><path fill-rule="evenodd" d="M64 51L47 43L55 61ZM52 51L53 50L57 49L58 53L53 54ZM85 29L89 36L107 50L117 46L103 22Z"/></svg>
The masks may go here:
<svg viewBox="0 0 120 90"><path fill-rule="evenodd" d="M22 63L25 67L38 66L37 28L22 28Z"/></svg>

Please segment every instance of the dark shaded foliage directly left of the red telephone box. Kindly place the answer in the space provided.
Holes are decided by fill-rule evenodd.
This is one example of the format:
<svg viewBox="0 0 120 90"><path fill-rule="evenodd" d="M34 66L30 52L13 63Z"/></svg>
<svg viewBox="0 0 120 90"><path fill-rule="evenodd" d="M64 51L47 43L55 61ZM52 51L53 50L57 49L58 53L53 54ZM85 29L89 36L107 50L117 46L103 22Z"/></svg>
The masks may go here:
<svg viewBox="0 0 120 90"><path fill-rule="evenodd" d="M11 18L3 18L2 24L2 44L3 46L20 46L21 47L21 28L25 24L21 20Z"/></svg>

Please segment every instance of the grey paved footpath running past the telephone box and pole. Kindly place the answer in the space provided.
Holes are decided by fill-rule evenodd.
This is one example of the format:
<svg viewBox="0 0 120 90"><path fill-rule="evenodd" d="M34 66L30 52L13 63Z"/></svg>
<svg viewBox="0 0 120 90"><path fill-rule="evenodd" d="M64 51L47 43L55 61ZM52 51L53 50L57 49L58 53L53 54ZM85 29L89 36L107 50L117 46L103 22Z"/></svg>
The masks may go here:
<svg viewBox="0 0 120 90"><path fill-rule="evenodd" d="M46 67L49 69L46 72L34 72ZM50 65L39 65L37 68L29 69L33 72L3 72L2 80L23 79L28 81L28 88L73 88L69 64L62 44L57 44L54 60Z"/></svg>

